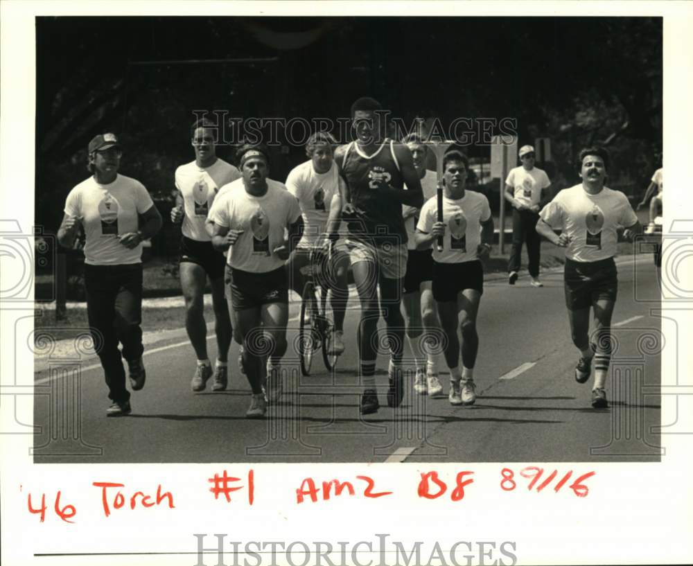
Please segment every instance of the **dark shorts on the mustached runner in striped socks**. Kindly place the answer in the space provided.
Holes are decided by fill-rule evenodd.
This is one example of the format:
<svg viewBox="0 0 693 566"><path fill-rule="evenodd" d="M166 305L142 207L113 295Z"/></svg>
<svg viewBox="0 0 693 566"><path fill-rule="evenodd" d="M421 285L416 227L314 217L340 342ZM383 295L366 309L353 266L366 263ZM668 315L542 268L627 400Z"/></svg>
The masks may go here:
<svg viewBox="0 0 693 566"><path fill-rule="evenodd" d="M616 263L613 258L590 262L565 258L563 287L568 310L590 308L600 299L615 301L618 293Z"/></svg>

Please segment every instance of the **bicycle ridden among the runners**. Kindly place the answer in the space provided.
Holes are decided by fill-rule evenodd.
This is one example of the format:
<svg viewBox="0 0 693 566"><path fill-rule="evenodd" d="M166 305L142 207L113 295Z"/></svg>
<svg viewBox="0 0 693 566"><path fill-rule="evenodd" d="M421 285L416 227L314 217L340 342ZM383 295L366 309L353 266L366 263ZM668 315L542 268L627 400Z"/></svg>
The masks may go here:
<svg viewBox="0 0 693 566"><path fill-rule="evenodd" d="M328 371L335 368L339 357L339 354L329 351L335 324L331 303L327 300L329 288L325 270L331 260L331 251L331 246L328 254L321 247L314 246L310 248L308 256L299 324L299 356L303 375L310 375L313 356L318 350L322 350L322 360Z"/></svg>

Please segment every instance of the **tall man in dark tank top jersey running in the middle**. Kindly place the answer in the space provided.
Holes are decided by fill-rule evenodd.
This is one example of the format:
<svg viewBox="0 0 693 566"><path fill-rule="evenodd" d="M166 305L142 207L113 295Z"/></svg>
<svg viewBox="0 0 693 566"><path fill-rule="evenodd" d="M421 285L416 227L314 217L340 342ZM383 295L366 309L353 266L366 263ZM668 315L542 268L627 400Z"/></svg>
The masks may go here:
<svg viewBox="0 0 693 566"><path fill-rule="evenodd" d="M351 272L361 303L358 328L363 385L361 414L377 412L380 407L375 371L381 312L387 325L391 356L387 405L399 407L402 403L404 319L400 303L407 269L407 231L401 205L423 204L412 154L405 145L385 138L381 114L383 107L377 100L369 97L356 100L351 105L351 120L357 139L335 150L335 163L347 184L343 218L349 229Z"/></svg>

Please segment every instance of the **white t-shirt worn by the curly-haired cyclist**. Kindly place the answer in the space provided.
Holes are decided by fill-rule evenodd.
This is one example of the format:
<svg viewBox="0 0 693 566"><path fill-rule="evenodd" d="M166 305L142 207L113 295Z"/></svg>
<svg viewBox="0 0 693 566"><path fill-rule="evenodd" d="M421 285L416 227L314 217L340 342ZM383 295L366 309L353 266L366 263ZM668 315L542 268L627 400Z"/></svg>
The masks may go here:
<svg viewBox="0 0 693 566"><path fill-rule="evenodd" d="M342 183L334 161L327 173L315 173L313 161L306 161L286 177L286 188L297 198L304 218L303 238L298 247L310 247L324 233L332 197L340 194Z"/></svg>

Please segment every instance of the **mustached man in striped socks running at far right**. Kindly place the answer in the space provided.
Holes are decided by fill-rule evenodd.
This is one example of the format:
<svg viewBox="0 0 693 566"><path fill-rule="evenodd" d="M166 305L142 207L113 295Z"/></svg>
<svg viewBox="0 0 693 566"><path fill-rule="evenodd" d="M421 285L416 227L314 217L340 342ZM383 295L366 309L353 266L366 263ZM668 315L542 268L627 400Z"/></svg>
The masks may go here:
<svg viewBox="0 0 693 566"><path fill-rule="evenodd" d="M580 152L582 183L564 188L544 206L536 231L550 242L565 247L563 275L565 306L568 307L572 342L580 352L575 380L585 383L595 360L592 406L608 407L606 377L611 361L611 315L616 302L618 281L614 256L617 229L632 240L642 231L628 198L604 185L608 153L604 148ZM561 230L558 236L554 230ZM590 340L590 308L595 330Z"/></svg>

